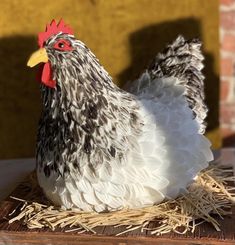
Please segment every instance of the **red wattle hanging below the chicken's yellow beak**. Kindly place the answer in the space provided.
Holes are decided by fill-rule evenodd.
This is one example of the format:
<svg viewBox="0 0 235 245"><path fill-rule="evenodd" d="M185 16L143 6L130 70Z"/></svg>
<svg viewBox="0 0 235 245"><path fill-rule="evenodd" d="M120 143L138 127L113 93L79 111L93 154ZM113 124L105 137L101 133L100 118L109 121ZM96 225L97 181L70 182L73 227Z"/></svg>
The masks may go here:
<svg viewBox="0 0 235 245"><path fill-rule="evenodd" d="M52 69L49 62L39 67L39 76L37 76L37 80L50 88L56 87L56 81L52 79Z"/></svg>

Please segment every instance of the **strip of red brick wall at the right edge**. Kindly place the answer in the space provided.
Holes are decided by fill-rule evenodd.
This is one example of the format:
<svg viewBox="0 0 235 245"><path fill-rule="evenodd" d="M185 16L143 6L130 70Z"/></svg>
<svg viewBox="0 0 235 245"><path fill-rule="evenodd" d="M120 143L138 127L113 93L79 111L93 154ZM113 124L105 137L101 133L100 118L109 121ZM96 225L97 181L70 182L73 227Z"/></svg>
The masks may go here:
<svg viewBox="0 0 235 245"><path fill-rule="evenodd" d="M224 145L235 145L235 0L220 0L220 123Z"/></svg>

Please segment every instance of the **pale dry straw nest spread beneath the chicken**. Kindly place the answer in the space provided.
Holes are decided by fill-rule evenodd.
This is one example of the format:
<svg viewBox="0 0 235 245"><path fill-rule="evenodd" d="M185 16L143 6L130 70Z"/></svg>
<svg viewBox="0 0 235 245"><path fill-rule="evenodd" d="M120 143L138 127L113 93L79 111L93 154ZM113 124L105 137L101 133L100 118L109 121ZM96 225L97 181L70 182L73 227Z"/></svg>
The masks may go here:
<svg viewBox="0 0 235 245"><path fill-rule="evenodd" d="M209 222L220 231L217 218L230 214L235 197L235 189L232 187L235 177L232 169L216 166L203 170L188 187L188 192L175 200L151 207L123 209L110 213L62 210L55 207L39 194L35 179L34 176L27 183L31 186L27 200L11 197L21 202L21 208L13 210L9 223L20 220L29 229L46 227L51 230L63 229L65 232L79 233L96 233L95 228L100 226L122 226L123 231L117 235L135 229L143 232L149 230L151 224L151 234L160 235L171 231L193 232L197 225Z"/></svg>

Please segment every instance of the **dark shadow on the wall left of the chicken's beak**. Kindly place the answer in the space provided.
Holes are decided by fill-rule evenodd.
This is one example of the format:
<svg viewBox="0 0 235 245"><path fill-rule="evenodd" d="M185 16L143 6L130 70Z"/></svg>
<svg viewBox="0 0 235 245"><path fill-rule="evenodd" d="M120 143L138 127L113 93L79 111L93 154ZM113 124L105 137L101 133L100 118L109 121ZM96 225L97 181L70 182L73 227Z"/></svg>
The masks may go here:
<svg viewBox="0 0 235 245"><path fill-rule="evenodd" d="M26 62L35 49L31 36L0 39L0 159L34 155L40 96Z"/></svg>

